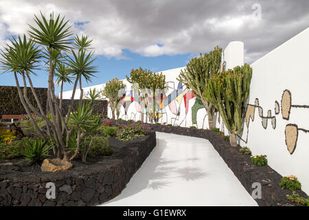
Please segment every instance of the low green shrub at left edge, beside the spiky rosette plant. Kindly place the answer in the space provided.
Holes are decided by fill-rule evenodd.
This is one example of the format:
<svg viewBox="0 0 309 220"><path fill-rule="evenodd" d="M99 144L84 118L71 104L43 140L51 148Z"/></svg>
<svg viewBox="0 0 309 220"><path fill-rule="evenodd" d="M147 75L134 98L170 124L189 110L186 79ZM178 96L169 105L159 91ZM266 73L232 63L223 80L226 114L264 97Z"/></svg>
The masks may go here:
<svg viewBox="0 0 309 220"><path fill-rule="evenodd" d="M12 141L10 144L0 143L0 159L14 159L21 157L21 153L16 149L21 149L23 143L21 140Z"/></svg>

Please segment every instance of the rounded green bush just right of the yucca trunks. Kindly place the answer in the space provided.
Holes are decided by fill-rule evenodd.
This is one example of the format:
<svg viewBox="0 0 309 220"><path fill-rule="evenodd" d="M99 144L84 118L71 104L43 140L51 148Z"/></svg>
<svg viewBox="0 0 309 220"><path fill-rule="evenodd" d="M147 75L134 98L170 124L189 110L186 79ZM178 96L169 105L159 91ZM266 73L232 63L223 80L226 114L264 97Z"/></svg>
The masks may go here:
<svg viewBox="0 0 309 220"><path fill-rule="evenodd" d="M89 144L89 142L90 138L87 138L87 144ZM114 148L109 146L108 138L95 136L93 137L88 155L89 157L95 157L95 155L110 156L114 151Z"/></svg>

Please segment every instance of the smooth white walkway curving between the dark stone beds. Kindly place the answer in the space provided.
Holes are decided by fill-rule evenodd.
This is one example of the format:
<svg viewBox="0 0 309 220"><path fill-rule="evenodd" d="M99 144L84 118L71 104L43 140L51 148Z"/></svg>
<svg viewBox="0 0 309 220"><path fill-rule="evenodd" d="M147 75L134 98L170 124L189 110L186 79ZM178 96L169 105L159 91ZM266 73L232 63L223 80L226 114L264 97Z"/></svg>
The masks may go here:
<svg viewBox="0 0 309 220"><path fill-rule="evenodd" d="M258 206L208 140L157 132L120 195L101 206Z"/></svg>

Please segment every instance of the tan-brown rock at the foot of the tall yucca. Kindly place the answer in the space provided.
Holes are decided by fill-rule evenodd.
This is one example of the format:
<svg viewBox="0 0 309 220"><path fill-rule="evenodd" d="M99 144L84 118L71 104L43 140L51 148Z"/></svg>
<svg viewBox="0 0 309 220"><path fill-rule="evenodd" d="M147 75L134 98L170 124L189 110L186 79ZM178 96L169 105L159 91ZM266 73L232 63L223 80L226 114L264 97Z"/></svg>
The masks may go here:
<svg viewBox="0 0 309 220"><path fill-rule="evenodd" d="M43 172L57 172L61 170L68 170L73 164L63 159L44 159L41 170Z"/></svg>

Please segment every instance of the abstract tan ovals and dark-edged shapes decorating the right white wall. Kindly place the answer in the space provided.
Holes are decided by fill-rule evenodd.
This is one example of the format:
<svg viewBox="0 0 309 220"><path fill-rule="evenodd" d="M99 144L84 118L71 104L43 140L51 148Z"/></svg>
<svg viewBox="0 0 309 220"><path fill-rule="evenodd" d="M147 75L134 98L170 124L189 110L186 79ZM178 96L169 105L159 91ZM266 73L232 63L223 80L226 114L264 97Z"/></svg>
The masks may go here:
<svg viewBox="0 0 309 220"><path fill-rule="evenodd" d="M268 120L271 120L271 124L273 126L273 129L276 128L276 116L279 114L280 107L279 102L275 101L275 115L271 114L271 110L267 111L267 116L263 115L263 108L260 107L258 98L255 98L255 104L247 104L247 110L246 110L246 125L247 125L247 140L243 140L240 136L240 139L247 143L248 141L248 135L249 135L249 122L250 119L252 122L254 121L254 115L255 115L255 108L258 108L259 116L262 119L262 126L264 129L267 129ZM281 100L281 113L282 118L284 120L290 120L290 111L293 108L304 108L309 109L308 105L298 105L298 104L292 104L292 95L288 89L284 90L282 94L282 100ZM290 154L293 154L297 145L297 138L299 131L309 133L309 130L301 129L297 126L297 124L286 124L285 129L285 141L286 146L288 148L288 152Z"/></svg>

